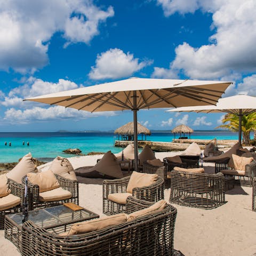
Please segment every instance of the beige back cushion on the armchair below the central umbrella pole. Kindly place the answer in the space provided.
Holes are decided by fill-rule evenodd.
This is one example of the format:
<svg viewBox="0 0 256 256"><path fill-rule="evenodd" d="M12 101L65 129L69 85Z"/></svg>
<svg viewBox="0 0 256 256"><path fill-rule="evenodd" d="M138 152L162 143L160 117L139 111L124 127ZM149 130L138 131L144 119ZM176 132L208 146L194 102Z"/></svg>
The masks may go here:
<svg viewBox="0 0 256 256"><path fill-rule="evenodd" d="M157 174L148 174L140 172L132 172L131 178L127 184L127 193L132 194L133 188L141 188L152 185L157 180Z"/></svg>

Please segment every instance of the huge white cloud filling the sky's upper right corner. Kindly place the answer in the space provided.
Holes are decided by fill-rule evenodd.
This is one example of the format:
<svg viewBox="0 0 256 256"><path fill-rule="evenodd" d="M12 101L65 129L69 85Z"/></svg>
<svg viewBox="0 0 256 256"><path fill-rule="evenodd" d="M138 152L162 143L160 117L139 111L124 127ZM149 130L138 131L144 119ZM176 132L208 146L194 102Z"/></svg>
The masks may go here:
<svg viewBox="0 0 256 256"><path fill-rule="evenodd" d="M215 34L209 44L194 48L184 42L175 49L170 69L155 68L157 77L170 77L182 71L190 78L215 79L256 67L256 2L252 0L158 0L166 16L175 12L194 13L201 9L213 13Z"/></svg>

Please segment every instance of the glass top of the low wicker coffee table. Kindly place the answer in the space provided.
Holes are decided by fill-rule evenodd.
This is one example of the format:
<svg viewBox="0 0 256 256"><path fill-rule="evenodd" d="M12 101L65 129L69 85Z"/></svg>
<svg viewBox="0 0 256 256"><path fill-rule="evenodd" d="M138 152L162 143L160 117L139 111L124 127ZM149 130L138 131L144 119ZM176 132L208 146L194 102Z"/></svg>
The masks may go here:
<svg viewBox="0 0 256 256"><path fill-rule="evenodd" d="M98 217L98 214L89 210L81 209L73 211L65 205L58 205L28 212L28 220L33 221L37 226L42 228L57 227L67 223L79 222ZM22 213L10 214L9 218L15 221L18 225L22 225Z"/></svg>

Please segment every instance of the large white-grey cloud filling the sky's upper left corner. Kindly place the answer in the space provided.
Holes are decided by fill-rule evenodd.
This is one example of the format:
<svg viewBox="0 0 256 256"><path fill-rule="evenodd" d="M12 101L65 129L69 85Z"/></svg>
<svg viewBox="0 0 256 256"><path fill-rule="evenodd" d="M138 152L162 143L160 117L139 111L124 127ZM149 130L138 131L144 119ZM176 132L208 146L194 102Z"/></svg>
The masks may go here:
<svg viewBox="0 0 256 256"><path fill-rule="evenodd" d="M113 17L113 7L99 9L92 0L5 0L0 5L0 69L20 72L45 66L51 37L89 44L99 23Z"/></svg>

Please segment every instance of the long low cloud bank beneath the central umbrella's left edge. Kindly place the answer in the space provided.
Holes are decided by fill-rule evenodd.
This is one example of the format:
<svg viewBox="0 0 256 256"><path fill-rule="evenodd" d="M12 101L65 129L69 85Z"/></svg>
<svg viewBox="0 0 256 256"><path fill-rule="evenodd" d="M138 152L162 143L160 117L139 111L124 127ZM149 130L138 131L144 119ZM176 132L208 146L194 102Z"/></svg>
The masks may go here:
<svg viewBox="0 0 256 256"><path fill-rule="evenodd" d="M10 108L5 111L4 120L12 123L29 123L31 121L49 121L53 119L74 118L76 121L97 116L114 116L114 111L90 113L87 111L78 111L73 108L54 106L49 108L34 107L31 109Z"/></svg>

